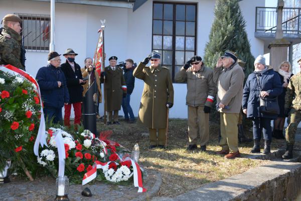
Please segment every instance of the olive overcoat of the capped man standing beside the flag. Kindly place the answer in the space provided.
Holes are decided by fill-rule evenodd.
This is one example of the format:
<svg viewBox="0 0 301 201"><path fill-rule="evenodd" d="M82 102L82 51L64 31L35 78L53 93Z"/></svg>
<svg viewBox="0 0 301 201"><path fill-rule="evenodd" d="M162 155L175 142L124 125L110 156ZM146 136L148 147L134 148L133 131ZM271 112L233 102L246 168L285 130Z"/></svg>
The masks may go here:
<svg viewBox="0 0 301 201"><path fill-rule="evenodd" d="M122 104L122 94L126 91L122 90L122 86L126 86L121 68L115 66L112 70L110 66L104 68L105 76L105 105L106 111L120 110ZM102 82L103 82L103 77Z"/></svg>

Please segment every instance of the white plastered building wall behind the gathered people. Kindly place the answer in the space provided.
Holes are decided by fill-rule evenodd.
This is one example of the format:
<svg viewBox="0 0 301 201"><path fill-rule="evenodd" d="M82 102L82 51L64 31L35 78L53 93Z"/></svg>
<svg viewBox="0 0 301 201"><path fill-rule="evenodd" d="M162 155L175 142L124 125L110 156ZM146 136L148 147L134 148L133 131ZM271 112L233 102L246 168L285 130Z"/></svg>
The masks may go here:
<svg viewBox="0 0 301 201"><path fill-rule="evenodd" d="M183 2L183 1L172 1ZM197 54L204 57L205 45L209 40L211 24L214 20L213 0L191 0L197 3ZM137 64L152 50L152 10L153 1L147 1L138 10L99 7L88 5L56 3L55 18L55 47L62 54L65 49L73 48L79 55L76 62L83 67L86 57L93 57L100 29L100 20L105 19L105 65L110 56L117 56L118 62L132 58ZM264 1L241 1L241 10L246 20L246 31L251 43L254 56L263 53L263 43L254 38L255 6L264 6ZM9 13L49 14L49 2L32 2L24 0L1 0L0 17ZM27 52L27 71L36 76L38 69L47 64L48 53ZM63 56L61 56L63 59ZM102 87L103 88L103 87ZM170 110L171 118L187 118L186 84L174 84L175 104ZM137 116L143 81L136 79L135 88L131 95L131 106ZM103 104L100 105L103 114ZM120 115L123 115L122 110Z"/></svg>

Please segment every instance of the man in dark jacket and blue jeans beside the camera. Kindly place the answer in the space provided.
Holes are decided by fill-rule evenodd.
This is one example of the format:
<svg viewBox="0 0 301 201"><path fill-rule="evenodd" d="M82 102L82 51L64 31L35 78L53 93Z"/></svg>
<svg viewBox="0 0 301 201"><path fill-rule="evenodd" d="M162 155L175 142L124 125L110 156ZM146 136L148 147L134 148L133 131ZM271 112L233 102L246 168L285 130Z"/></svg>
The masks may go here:
<svg viewBox="0 0 301 201"><path fill-rule="evenodd" d="M125 62L126 64L125 64L125 68L123 69L124 71L123 76L125 79L127 91L126 91L126 96L122 99L122 110L124 113L125 121L132 124L135 122L135 116L133 114L133 110L129 105L129 102L130 102L130 94L133 92L135 86L135 77L133 76L134 61L132 59L126 59ZM130 119L128 118L128 115Z"/></svg>

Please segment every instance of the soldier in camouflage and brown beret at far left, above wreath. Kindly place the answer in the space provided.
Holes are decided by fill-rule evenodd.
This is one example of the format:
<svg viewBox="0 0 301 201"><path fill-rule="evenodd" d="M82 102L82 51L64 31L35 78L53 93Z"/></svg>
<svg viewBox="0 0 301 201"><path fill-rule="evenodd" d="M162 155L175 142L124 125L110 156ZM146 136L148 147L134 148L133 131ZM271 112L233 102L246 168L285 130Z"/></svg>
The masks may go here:
<svg viewBox="0 0 301 201"><path fill-rule="evenodd" d="M6 15L3 18L4 30L0 34L0 65L11 64L25 70L25 58L21 59L22 20L16 15Z"/></svg>

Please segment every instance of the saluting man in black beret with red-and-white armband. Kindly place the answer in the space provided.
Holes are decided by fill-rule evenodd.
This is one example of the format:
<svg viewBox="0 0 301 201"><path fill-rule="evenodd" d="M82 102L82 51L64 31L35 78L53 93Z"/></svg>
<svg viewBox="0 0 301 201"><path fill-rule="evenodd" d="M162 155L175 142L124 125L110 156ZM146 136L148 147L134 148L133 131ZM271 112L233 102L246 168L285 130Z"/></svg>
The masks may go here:
<svg viewBox="0 0 301 201"><path fill-rule="evenodd" d="M187 81L189 137L187 150L197 149L199 132L201 151L206 151L206 144L209 141L209 113L216 95L213 70L204 66L200 56L193 56L176 74L175 80Z"/></svg>

